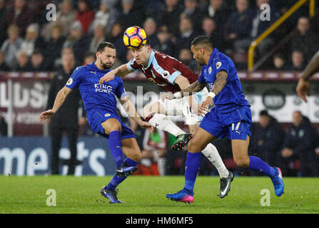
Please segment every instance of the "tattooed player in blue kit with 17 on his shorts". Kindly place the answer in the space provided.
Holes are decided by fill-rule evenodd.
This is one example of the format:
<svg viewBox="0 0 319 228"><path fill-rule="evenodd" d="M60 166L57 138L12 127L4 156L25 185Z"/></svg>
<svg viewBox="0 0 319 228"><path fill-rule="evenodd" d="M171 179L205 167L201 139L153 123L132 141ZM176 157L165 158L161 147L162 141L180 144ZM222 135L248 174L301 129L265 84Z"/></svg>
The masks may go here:
<svg viewBox="0 0 319 228"><path fill-rule="evenodd" d="M179 202L193 202L196 175L201 165L201 150L211 141L225 136L231 139L236 165L268 175L273 182L275 195L279 197L284 189L281 170L270 167L258 157L248 156L251 136L250 104L243 94L233 61L213 48L213 43L207 36L196 37L191 43L191 51L193 58L202 66L201 76L188 88L171 95L171 98L181 98L183 95L198 92L203 90L206 84L210 88L210 93L198 108L202 116L206 115L193 139L188 143L185 186L183 190L166 197ZM215 107L208 110L208 106L213 103Z"/></svg>

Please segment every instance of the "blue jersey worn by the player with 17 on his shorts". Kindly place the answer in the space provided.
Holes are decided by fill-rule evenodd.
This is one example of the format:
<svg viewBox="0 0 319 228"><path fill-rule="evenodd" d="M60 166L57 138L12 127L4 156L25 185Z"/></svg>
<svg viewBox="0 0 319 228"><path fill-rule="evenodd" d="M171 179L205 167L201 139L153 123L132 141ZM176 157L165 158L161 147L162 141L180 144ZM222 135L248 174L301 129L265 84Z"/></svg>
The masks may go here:
<svg viewBox="0 0 319 228"><path fill-rule="evenodd" d="M231 58L214 48L208 65L201 68L201 76L198 77L198 82L208 84L209 89L213 88L216 81L216 75L220 71L228 73L226 86L220 93L213 98L215 108L219 113L229 113L242 106L250 106L245 99L243 89L241 87L236 67Z"/></svg>

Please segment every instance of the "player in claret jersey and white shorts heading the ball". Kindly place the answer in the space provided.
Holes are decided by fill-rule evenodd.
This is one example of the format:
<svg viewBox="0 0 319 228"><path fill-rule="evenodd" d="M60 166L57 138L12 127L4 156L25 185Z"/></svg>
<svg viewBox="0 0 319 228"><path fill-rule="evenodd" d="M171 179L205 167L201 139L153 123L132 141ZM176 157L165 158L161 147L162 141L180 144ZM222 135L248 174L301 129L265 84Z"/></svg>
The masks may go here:
<svg viewBox="0 0 319 228"><path fill-rule="evenodd" d="M153 50L149 41L147 41L146 45L142 48L132 49L131 51L134 58L127 64L119 66L115 70L107 73L101 78L100 83L113 80L115 75L126 76L132 71L141 69L146 78L168 92L165 93L160 100L156 100L156 102L146 105L143 108L143 118L153 127L175 135L177 137L175 148L179 149L187 145L193 135L187 134L181 130L181 128L178 128L166 115L183 115L186 118L186 124L189 125L191 133L195 133L198 128L198 123L201 121L201 117L192 110L197 111L197 103L201 103L201 101L207 97L207 88L202 88L195 96L190 96L191 98L185 97L168 100L166 98L170 94L173 95L173 93L181 91L181 89L185 89L191 83L197 81L198 75L175 58ZM192 109L191 107L195 108ZM221 156L218 154L218 150L213 144L208 144L202 152L203 155L213 163L221 177L219 197L226 197L231 189L233 173L227 170Z"/></svg>

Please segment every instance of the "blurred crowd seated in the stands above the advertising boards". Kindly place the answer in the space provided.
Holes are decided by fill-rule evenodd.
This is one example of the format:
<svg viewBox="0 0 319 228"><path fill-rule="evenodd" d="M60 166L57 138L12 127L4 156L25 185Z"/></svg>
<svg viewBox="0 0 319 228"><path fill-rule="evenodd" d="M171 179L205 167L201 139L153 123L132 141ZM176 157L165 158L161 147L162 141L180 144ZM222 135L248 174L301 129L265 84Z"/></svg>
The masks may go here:
<svg viewBox="0 0 319 228"><path fill-rule="evenodd" d="M49 3L56 5L56 21L46 19ZM218 50L230 55L246 53L251 41L293 3L292 0L0 0L0 71L55 71L66 47L73 49L76 65L82 65L101 41L114 43L118 66L126 62L128 52L122 42L123 31L133 25L146 30L153 48L196 69L190 52L194 37L206 34ZM260 20L263 4L270 4L270 21ZM280 52L273 62L279 70L300 70L318 50L312 46L318 33L307 16L307 6L301 7L258 45L257 57L298 28L289 50Z"/></svg>

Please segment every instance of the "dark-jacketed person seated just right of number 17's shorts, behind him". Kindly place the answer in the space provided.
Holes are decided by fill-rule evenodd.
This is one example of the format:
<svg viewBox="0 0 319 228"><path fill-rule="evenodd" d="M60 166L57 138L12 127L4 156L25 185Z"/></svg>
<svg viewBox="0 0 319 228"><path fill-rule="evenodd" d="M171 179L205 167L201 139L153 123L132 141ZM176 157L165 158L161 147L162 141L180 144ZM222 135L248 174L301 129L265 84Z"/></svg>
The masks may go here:
<svg viewBox="0 0 319 228"><path fill-rule="evenodd" d="M269 165L278 166L280 150L283 148L285 131L266 110L259 113L259 123L251 128L250 155L256 155Z"/></svg>

